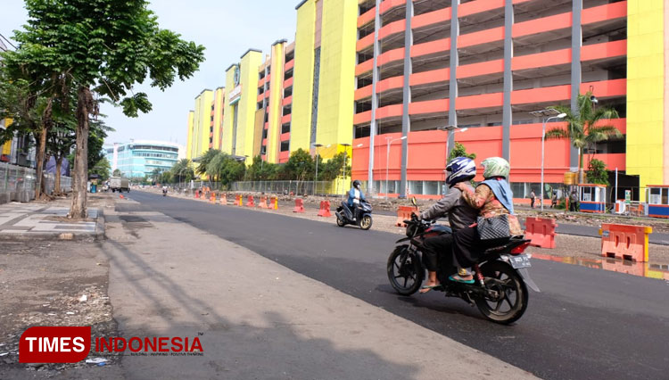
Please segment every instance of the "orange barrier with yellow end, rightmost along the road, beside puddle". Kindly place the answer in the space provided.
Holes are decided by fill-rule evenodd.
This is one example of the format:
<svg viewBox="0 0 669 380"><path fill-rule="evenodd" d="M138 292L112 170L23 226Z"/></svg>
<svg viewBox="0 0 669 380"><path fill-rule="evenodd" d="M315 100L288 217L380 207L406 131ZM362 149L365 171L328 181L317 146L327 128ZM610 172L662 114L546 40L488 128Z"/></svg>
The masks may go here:
<svg viewBox="0 0 669 380"><path fill-rule="evenodd" d="M648 234L652 227L602 223L601 255L615 259L648 262Z"/></svg>

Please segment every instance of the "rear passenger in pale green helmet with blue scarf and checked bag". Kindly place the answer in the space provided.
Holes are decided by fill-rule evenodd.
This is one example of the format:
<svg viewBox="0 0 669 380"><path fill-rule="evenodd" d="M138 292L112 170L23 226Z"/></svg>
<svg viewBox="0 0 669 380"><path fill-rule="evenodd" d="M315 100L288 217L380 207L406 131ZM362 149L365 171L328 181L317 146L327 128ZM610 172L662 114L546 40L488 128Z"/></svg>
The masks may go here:
<svg viewBox="0 0 669 380"><path fill-rule="evenodd" d="M520 223L514 215L513 192L507 182L508 172L511 169L508 161L501 157L491 157L481 162L481 165L485 180L476 186L475 191L463 183L456 184L455 187L462 190L462 197L470 206L480 211L481 217L487 219L507 214L509 235L523 235ZM463 228L453 234L453 252L461 268L468 268L474 264L486 248L500 244L504 242L500 242L499 239L483 242L476 227ZM474 277L471 275L456 275L449 279L467 284L474 282Z"/></svg>

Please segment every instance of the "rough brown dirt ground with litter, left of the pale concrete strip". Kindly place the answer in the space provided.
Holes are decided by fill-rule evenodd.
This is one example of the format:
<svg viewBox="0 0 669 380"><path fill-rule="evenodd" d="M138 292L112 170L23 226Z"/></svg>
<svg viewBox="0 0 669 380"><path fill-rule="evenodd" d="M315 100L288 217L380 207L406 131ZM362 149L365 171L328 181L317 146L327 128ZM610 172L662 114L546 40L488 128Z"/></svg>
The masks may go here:
<svg viewBox="0 0 669 380"><path fill-rule="evenodd" d="M105 255L93 242L3 242L0 378L102 375L100 370L90 374L79 371L95 367L84 362L21 364L19 339L30 326L92 326L94 341L95 336L118 336L107 297L108 270ZM104 359L104 366L118 361L113 356Z"/></svg>

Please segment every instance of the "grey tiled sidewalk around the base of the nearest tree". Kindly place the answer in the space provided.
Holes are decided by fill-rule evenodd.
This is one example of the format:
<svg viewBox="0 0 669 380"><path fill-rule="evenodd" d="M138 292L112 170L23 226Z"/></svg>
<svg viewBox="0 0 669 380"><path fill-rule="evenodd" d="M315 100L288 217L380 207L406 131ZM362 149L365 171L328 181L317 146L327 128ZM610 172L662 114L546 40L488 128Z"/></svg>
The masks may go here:
<svg viewBox="0 0 669 380"><path fill-rule="evenodd" d="M99 239L104 235L103 195L89 194L88 218L67 219L70 199L0 204L0 240Z"/></svg>

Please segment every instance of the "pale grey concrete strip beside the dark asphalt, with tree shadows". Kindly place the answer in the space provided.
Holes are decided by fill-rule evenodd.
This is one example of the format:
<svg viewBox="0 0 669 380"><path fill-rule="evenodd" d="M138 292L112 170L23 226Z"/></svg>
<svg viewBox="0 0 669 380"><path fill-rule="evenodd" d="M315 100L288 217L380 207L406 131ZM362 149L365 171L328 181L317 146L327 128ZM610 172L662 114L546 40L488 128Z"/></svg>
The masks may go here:
<svg viewBox="0 0 669 380"><path fill-rule="evenodd" d="M125 356L128 378L533 378L127 200L103 252L120 336L200 336L203 356ZM130 207L126 207L130 206ZM199 247L199 248L197 248Z"/></svg>

